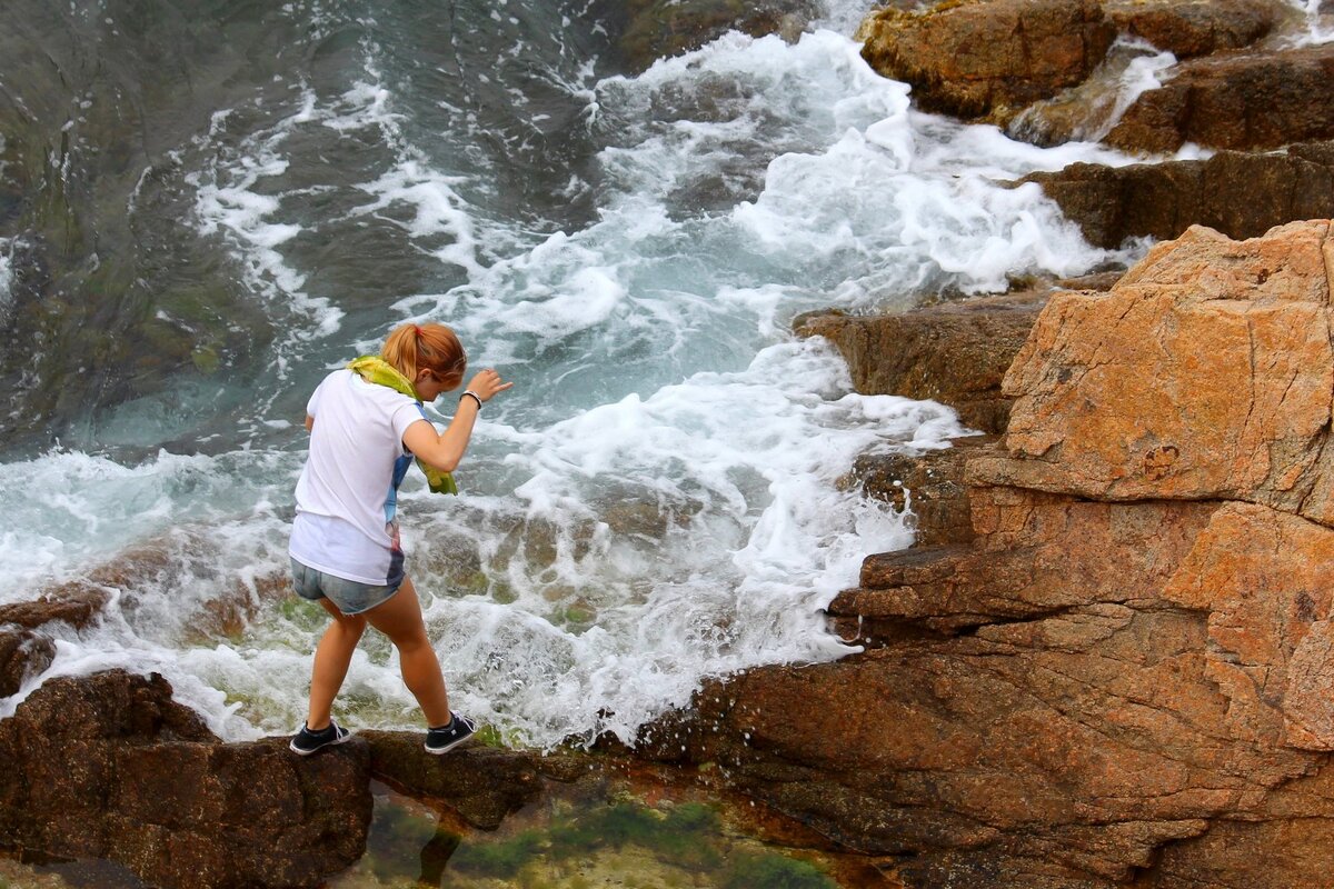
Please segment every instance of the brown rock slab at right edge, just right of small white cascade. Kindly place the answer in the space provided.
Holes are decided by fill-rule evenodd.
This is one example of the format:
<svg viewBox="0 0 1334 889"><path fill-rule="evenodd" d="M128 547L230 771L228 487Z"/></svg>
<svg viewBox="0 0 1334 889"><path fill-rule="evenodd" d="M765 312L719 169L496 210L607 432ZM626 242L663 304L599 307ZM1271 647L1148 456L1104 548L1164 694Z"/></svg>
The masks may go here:
<svg viewBox="0 0 1334 889"><path fill-rule="evenodd" d="M1139 96L1106 143L1173 152L1185 143L1263 151L1334 139L1334 44L1191 59Z"/></svg>

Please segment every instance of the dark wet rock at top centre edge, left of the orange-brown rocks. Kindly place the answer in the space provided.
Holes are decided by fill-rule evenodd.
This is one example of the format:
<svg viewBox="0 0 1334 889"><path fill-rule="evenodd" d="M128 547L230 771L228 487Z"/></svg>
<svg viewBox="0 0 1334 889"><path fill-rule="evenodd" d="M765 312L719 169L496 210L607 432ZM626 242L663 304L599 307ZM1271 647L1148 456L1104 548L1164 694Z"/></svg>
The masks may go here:
<svg viewBox="0 0 1334 889"><path fill-rule="evenodd" d="M631 68L644 71L658 59L698 49L728 31L796 40L818 12L811 0L630 0L619 45Z"/></svg>

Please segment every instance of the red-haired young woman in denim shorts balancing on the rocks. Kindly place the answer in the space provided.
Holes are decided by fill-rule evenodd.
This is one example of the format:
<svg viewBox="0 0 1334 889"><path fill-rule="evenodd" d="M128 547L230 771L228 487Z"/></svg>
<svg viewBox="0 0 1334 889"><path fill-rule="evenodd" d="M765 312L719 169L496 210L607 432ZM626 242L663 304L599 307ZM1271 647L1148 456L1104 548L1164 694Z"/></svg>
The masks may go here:
<svg viewBox="0 0 1334 889"><path fill-rule="evenodd" d="M454 420L436 432L422 403L458 388L466 368L454 331L404 324L390 333L379 357L358 359L327 376L305 407L311 452L296 482L292 585L323 605L334 622L315 649L309 710L291 742L301 756L350 737L329 710L367 624L399 649L403 681L426 716L427 752L444 753L475 729L472 720L450 709L440 660L403 572L395 520L398 488L412 457L432 490L455 493L450 473L463 458L482 405L514 385L495 371L482 371L459 397Z"/></svg>

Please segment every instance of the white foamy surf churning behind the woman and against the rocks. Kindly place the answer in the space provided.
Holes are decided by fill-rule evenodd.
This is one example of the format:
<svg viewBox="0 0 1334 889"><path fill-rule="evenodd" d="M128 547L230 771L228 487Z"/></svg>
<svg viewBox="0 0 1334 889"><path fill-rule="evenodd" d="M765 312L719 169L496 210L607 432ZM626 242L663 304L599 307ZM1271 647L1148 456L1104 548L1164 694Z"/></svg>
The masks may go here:
<svg viewBox="0 0 1334 889"><path fill-rule="evenodd" d="M507 27L516 45L539 40ZM277 582L300 408L328 368L431 319L459 331L474 367L516 381L484 411L464 496L415 476L403 496L455 705L530 744L630 738L706 676L850 650L819 609L867 553L911 537L840 477L859 453L964 432L942 405L851 393L827 344L792 341L794 315L1130 259L1091 249L1037 187L999 184L1129 159L914 112L834 31L795 45L730 35L636 77L598 79L554 51L526 76L547 91L542 115L595 151L534 173L556 196L544 215L512 200L496 161L544 157L543 121L506 129L459 97L423 104L382 39L359 44L342 88L293 79L281 101L220 109L181 147L193 229L284 331L233 439L207 454L57 449L0 465L15 517L0 572L20 581L0 594L148 552L96 574L107 616L61 633L47 676L161 672L228 738L299 725L323 629ZM514 108L538 117L536 93L520 93ZM356 251L379 275L358 272ZM340 706L351 726L419 724L378 637Z"/></svg>

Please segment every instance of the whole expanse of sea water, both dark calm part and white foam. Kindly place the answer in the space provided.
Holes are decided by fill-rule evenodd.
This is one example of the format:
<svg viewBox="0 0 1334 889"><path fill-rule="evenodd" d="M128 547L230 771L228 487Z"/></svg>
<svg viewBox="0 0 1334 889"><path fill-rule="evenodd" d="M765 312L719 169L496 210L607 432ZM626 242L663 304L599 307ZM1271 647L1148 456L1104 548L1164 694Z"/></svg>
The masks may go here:
<svg viewBox="0 0 1334 889"><path fill-rule="evenodd" d="M963 428L852 393L791 319L1129 259L1002 184L1129 159L912 111L854 4L643 73L598 4L16 13L0 180L59 200L0 213L7 323L45 319L7 403L0 601L75 578L112 601L0 716L125 666L225 738L291 732L320 628L281 580L303 407L423 319L516 383L463 496L403 496L458 706L515 742L628 740L706 676L840 657L820 608L911 533L839 480ZM418 728L386 646L344 690L348 725Z"/></svg>

